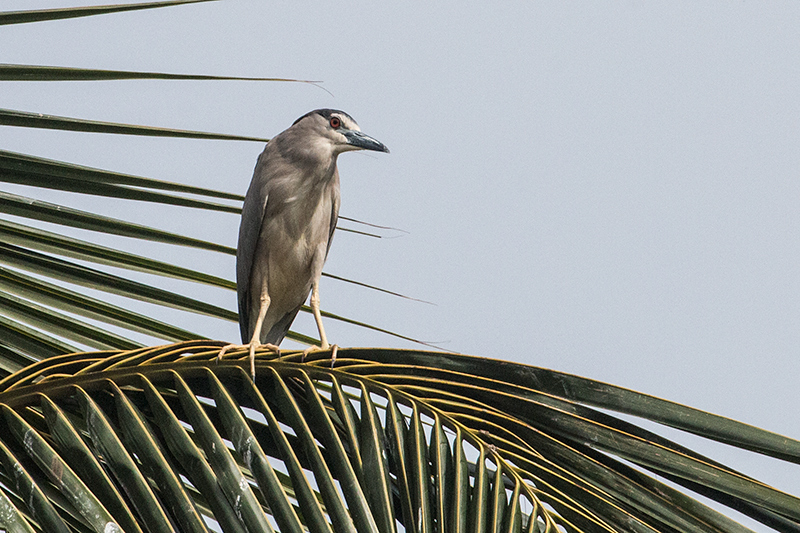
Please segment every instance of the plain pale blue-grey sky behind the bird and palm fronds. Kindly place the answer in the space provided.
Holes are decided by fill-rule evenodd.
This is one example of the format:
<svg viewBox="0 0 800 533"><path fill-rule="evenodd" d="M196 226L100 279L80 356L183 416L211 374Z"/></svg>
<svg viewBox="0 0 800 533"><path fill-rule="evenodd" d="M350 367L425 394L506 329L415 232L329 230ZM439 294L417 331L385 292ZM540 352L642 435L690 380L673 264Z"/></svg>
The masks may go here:
<svg viewBox="0 0 800 533"><path fill-rule="evenodd" d="M338 232L325 270L435 305L324 279L323 309L800 438L799 27L796 2L226 0L4 26L0 62L325 90L2 82L0 107L260 137L342 109L391 153L340 158L341 214L407 233ZM263 149L9 127L0 146L241 194ZM235 215L36 194L236 244ZM234 276L233 258L73 234ZM235 309L232 292L174 287ZM235 324L159 312L238 340ZM342 346L414 347L325 324ZM681 442L800 494L796 465Z"/></svg>

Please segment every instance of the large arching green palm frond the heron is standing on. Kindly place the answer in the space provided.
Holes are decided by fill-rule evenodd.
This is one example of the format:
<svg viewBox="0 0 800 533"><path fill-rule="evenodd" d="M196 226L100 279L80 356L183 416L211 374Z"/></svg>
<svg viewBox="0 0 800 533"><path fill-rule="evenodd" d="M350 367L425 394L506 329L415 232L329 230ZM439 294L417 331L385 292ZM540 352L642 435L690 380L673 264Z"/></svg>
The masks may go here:
<svg viewBox="0 0 800 533"><path fill-rule="evenodd" d="M800 527L800 499L598 411L592 380L342 349L335 368L329 352L259 354L254 382L246 353L218 361L221 347L54 357L0 382L4 516L33 531L749 531L667 477ZM510 379L487 377L498 366ZM603 387L627 396L623 413L723 420L748 436L705 436L798 459L800 442Z"/></svg>

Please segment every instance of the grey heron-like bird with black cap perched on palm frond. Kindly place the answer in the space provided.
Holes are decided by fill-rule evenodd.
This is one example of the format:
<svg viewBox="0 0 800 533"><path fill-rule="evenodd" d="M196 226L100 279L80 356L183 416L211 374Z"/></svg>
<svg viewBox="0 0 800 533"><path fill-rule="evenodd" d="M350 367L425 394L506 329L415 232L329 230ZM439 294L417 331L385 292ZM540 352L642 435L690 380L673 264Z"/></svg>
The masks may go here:
<svg viewBox="0 0 800 533"><path fill-rule="evenodd" d="M311 293L320 345L331 348L319 308L319 280L339 218L339 154L389 152L337 109L316 109L273 137L258 157L242 206L236 248L239 330L255 378L255 351L278 347Z"/></svg>

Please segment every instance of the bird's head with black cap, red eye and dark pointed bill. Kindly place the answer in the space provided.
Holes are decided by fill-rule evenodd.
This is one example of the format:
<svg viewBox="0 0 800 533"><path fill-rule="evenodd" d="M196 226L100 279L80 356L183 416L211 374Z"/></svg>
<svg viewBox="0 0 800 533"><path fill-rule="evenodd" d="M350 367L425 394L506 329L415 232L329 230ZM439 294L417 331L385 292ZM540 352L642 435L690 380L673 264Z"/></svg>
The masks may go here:
<svg viewBox="0 0 800 533"><path fill-rule="evenodd" d="M314 144L315 148L330 150L332 155L353 150L388 152L378 141L361 133L353 117L336 109L316 109L298 118L290 129L297 129Z"/></svg>

